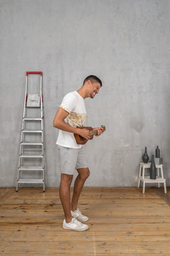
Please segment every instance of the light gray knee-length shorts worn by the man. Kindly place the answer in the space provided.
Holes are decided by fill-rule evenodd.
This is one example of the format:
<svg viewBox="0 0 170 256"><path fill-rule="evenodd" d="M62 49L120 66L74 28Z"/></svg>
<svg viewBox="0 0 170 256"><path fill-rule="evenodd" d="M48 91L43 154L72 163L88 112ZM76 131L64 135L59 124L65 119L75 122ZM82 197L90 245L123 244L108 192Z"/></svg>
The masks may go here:
<svg viewBox="0 0 170 256"><path fill-rule="evenodd" d="M86 155L83 146L79 149L65 148L58 145L60 151L61 173L73 175L75 169L87 168Z"/></svg>

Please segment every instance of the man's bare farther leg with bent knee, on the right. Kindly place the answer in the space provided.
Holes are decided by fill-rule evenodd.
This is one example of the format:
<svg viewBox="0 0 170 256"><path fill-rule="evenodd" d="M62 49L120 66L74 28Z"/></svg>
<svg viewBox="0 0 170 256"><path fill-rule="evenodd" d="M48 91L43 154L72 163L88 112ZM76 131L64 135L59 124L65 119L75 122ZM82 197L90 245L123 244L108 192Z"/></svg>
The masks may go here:
<svg viewBox="0 0 170 256"><path fill-rule="evenodd" d="M89 168L79 168L77 169L77 172L79 173L79 175L77 176L74 182L73 197L71 200L71 211L73 212L77 210L77 203L79 201L79 197L83 189L83 185L90 175Z"/></svg>

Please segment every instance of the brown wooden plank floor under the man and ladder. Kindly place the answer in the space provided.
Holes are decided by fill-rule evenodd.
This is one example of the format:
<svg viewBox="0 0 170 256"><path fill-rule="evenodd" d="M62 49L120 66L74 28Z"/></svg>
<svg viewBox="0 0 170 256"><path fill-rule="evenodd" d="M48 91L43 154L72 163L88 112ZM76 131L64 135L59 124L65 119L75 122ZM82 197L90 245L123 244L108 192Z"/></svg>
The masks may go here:
<svg viewBox="0 0 170 256"><path fill-rule="evenodd" d="M162 191L84 188L90 229L76 232L62 228L58 188L0 188L0 255L170 256L170 188Z"/></svg>

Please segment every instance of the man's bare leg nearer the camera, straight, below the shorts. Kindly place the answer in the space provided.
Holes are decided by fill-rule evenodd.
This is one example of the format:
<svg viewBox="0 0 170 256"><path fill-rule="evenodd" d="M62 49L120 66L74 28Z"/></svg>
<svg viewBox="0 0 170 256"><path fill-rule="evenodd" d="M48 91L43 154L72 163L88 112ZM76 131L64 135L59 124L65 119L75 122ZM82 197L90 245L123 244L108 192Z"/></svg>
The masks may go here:
<svg viewBox="0 0 170 256"><path fill-rule="evenodd" d="M70 185L73 175L61 174L60 200L63 206L66 223L70 223L73 217L70 209Z"/></svg>

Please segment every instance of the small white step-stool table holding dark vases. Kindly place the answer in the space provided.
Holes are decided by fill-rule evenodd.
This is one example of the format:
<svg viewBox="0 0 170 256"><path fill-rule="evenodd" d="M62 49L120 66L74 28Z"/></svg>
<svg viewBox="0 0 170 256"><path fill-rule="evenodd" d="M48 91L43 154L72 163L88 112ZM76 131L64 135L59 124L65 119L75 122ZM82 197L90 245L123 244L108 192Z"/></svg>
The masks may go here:
<svg viewBox="0 0 170 256"><path fill-rule="evenodd" d="M143 190L142 193L145 193L145 183L158 183L158 187L160 187L160 183L164 183L164 193L166 193L166 180L163 175L163 168L162 164L161 165L156 165L156 171L157 171L157 176L156 180L151 180L149 176L145 176L145 169L151 167L151 162L145 164L143 162L139 163L139 178L138 178L138 188L140 185L140 180L143 182ZM159 176L159 169L161 170L161 176ZM141 175L142 172L142 175Z"/></svg>

